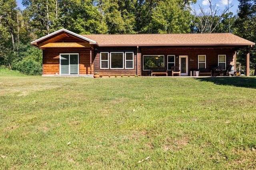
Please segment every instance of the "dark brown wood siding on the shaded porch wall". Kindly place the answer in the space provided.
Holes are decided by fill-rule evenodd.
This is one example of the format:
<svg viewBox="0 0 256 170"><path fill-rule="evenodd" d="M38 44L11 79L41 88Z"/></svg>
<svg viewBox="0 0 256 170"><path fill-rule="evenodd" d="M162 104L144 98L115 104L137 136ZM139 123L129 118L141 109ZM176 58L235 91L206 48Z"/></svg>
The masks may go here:
<svg viewBox="0 0 256 170"><path fill-rule="evenodd" d="M206 69L218 66L218 55L226 55L226 66L234 65L234 47L142 47L141 48L141 64L143 64L143 55L164 55L164 66L167 68L167 55L175 55L175 65L179 64L180 55L188 55L189 71L198 70L198 55L206 55ZM143 70L143 76L148 75L148 70ZM171 72L168 71L168 75Z"/></svg>

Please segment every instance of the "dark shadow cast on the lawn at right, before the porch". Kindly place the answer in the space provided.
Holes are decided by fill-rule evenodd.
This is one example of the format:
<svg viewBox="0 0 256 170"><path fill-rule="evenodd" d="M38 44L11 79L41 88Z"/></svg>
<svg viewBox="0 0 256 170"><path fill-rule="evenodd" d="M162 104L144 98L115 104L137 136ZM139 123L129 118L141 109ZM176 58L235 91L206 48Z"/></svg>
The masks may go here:
<svg viewBox="0 0 256 170"><path fill-rule="evenodd" d="M213 82L218 85L256 88L256 77L207 77L196 78L200 81Z"/></svg>

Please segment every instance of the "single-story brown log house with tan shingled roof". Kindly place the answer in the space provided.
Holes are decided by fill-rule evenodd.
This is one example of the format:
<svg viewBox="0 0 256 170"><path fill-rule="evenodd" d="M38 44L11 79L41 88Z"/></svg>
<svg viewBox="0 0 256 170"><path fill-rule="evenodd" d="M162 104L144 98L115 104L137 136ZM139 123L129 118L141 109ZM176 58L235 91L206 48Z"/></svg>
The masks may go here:
<svg viewBox="0 0 256 170"><path fill-rule="evenodd" d="M168 76L179 66L181 76L190 71L236 66L236 53L255 43L231 33L78 35L60 29L31 42L43 50L43 75L150 75L164 67ZM249 76L249 64L247 64Z"/></svg>

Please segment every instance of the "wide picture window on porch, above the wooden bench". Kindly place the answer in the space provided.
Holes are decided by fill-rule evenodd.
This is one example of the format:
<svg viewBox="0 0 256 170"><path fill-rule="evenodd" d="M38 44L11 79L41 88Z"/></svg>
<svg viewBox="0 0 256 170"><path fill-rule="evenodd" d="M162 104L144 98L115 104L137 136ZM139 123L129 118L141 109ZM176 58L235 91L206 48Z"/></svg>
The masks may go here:
<svg viewBox="0 0 256 170"><path fill-rule="evenodd" d="M164 67L163 55L144 55L143 70L151 70L151 67Z"/></svg>

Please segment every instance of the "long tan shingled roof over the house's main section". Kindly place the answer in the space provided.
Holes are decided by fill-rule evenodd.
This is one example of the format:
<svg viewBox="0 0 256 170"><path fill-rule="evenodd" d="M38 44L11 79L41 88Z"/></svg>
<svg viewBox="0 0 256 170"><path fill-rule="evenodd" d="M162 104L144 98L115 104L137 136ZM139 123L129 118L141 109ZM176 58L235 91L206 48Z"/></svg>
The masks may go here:
<svg viewBox="0 0 256 170"><path fill-rule="evenodd" d="M82 35L109 46L244 46L255 43L231 33Z"/></svg>

